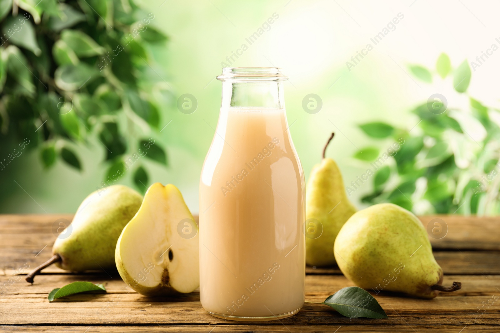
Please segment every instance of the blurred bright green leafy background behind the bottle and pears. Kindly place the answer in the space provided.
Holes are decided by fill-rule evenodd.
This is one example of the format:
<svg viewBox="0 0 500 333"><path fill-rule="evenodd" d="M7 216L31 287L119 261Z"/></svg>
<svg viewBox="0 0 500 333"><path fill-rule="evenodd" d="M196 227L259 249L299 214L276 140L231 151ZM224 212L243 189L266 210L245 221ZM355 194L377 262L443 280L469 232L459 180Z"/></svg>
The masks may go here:
<svg viewBox="0 0 500 333"><path fill-rule="evenodd" d="M6 15L3 27L11 16L4 4L11 1L0 2L0 15ZM2 98L33 91L39 95L43 87L30 75L40 73L36 76L49 87L42 73L50 68L48 76L54 78L51 84L56 95L45 94L45 99L59 112L36 113L33 110L44 105L37 99L28 106L12 103L10 112L17 121L9 118L8 133L2 121L1 158L22 143L26 137L22 133L32 134L45 119L53 119L42 127L51 126L50 135L38 130L35 141L0 171L1 212L73 213L88 193L119 171L123 173L119 183L140 191L153 181L175 184L191 211L197 212L199 173L220 105L220 82L214 76L220 73L221 62L228 63L232 56L231 66L280 66L289 76L285 83L289 130L306 177L319 162L331 131L336 136L326 154L338 162L346 186L398 138L404 138L400 151L349 196L358 208L389 201L417 214L497 213L496 183L478 188L475 182L491 172L498 159L499 96L494 89L498 77L493 75L498 60L491 56L477 71L470 68L470 61L495 36L483 33L482 25L459 4L433 3L435 8L429 11L419 2L408 7L410 2L400 1L357 5L200 0L185 5L154 0L135 8L124 0L81 0L65 3L81 9L83 16L73 15L74 25L64 27L57 19L57 10L64 10L64 5L61 9L57 2L43 0L34 8L34 1L18 2L22 4L18 15L32 11L33 29L21 30L22 42L12 40L17 50L2 50L2 63L5 57L8 64L0 66L0 82L5 87ZM123 3L135 8L133 18L120 14ZM404 19L396 29L348 70L345 62L399 11ZM475 11L488 26L497 24L486 11ZM113 50L120 33L148 13L154 18L147 29L99 71L102 52ZM279 17L270 28L235 57L241 44L248 44L245 38L273 13ZM428 24L420 24L421 17ZM29 37L33 34L34 39ZM22 61L18 52L32 73L15 58ZM50 54L53 65L44 66ZM8 62L10 58L17 61ZM113 63L120 65L113 67ZM103 75L107 71L114 74L121 89ZM15 76L9 78L9 72ZM77 89L90 74L95 81L86 82L82 91ZM70 93L71 99L66 98ZM191 114L176 108L178 96L184 93L197 99L197 109ZM302 109L302 98L309 93L322 98L322 109L316 114ZM433 114L427 107L434 93L447 99L448 108L442 114ZM64 103L58 104L58 96ZM100 111L93 114L95 110ZM4 111L0 111L3 119ZM15 130L10 131L12 124ZM161 152L153 149L127 169L128 158L149 138Z"/></svg>

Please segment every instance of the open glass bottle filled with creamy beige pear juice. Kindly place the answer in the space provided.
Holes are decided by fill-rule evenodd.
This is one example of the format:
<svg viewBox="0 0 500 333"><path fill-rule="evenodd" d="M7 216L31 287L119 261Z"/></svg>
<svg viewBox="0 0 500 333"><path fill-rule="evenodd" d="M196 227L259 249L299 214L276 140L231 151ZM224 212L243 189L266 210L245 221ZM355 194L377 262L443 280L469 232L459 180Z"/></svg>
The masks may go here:
<svg viewBox="0 0 500 333"><path fill-rule="evenodd" d="M279 68L223 68L199 185L200 299L231 320L286 318L304 303L304 176Z"/></svg>

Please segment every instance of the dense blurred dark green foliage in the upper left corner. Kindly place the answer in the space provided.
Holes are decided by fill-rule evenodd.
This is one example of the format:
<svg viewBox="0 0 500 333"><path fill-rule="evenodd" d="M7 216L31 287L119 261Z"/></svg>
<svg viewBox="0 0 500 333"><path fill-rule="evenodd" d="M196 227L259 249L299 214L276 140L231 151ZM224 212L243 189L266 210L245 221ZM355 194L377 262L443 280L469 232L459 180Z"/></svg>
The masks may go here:
<svg viewBox="0 0 500 333"><path fill-rule="evenodd" d="M90 138L105 152L103 186L131 169L144 191L136 161L167 164L150 138L170 89L150 65L167 40L153 19L131 0L0 0L0 142L27 138L46 168L82 170L74 147Z"/></svg>

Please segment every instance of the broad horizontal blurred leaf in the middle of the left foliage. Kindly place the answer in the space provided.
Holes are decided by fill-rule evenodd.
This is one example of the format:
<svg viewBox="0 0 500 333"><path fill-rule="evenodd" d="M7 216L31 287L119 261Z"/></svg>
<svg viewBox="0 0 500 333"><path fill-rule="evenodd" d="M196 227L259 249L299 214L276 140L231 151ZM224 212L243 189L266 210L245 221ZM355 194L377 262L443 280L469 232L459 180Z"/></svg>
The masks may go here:
<svg viewBox="0 0 500 333"><path fill-rule="evenodd" d="M77 90L100 75L95 67L85 63L62 65L55 70L55 84L63 90Z"/></svg>

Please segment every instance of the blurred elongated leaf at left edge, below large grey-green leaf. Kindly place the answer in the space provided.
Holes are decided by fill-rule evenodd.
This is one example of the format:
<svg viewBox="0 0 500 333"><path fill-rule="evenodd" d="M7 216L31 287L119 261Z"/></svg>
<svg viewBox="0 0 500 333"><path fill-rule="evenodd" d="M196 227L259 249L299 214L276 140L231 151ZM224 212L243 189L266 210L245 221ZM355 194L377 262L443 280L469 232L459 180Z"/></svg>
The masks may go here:
<svg viewBox="0 0 500 333"><path fill-rule="evenodd" d="M21 87L22 94L32 95L35 91L33 75L28 69L28 61L17 46L9 45L2 52L2 60L7 63L7 75Z"/></svg>

